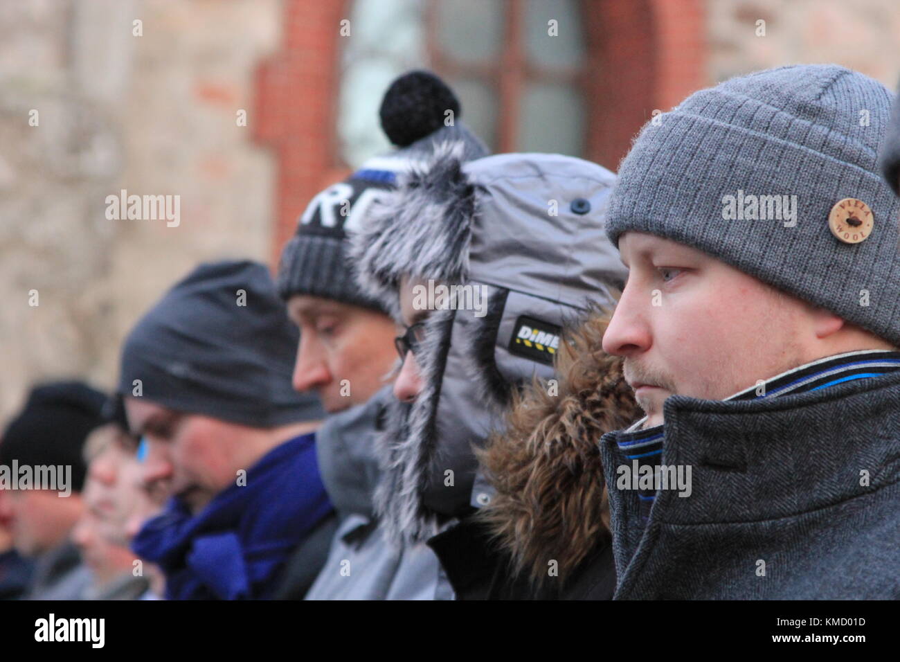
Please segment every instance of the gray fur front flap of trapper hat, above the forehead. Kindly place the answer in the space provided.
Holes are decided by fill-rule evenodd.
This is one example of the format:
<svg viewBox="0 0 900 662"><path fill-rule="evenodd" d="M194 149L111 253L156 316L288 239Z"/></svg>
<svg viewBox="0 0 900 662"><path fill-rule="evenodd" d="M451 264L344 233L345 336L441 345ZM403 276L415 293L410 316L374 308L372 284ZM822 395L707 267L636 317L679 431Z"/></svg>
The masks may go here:
<svg viewBox="0 0 900 662"><path fill-rule="evenodd" d="M356 280L401 319L401 277L462 283L477 213L476 186L463 172L464 143L444 142L424 169L374 201L367 225L351 238Z"/></svg>

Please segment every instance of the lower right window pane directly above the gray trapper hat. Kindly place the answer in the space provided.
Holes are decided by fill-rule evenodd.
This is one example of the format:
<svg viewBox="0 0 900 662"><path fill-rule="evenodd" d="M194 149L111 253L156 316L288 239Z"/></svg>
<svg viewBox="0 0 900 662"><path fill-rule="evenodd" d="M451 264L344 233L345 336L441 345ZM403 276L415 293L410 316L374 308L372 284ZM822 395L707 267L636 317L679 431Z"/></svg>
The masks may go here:
<svg viewBox="0 0 900 662"><path fill-rule="evenodd" d="M584 141L584 107L577 88L531 83L520 109L518 150L579 157Z"/></svg>

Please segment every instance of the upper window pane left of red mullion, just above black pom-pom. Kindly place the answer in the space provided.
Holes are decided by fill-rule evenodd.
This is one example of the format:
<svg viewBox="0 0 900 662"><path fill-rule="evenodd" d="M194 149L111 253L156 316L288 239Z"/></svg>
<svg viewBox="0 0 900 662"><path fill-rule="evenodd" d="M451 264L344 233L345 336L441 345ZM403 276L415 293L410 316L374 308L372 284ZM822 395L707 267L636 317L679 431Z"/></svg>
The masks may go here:
<svg viewBox="0 0 900 662"><path fill-rule="evenodd" d="M437 47L461 64L500 59L502 0L438 0Z"/></svg>

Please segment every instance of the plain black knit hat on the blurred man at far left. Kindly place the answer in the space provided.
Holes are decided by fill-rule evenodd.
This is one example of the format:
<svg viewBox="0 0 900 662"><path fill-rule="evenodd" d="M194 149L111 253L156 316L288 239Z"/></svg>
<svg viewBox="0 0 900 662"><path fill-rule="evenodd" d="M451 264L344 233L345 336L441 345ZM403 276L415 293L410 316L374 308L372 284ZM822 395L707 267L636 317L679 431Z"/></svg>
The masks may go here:
<svg viewBox="0 0 900 662"><path fill-rule="evenodd" d="M0 440L0 464L72 467L72 490L85 484L82 449L87 435L103 423L106 396L82 382L35 386L23 411Z"/></svg>

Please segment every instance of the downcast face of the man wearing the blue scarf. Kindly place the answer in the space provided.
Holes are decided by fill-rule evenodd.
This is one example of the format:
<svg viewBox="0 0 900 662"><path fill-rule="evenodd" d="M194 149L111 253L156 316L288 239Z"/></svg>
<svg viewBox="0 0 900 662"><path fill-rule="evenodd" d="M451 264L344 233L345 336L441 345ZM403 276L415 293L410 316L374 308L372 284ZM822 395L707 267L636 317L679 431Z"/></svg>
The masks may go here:
<svg viewBox="0 0 900 662"><path fill-rule="evenodd" d="M191 512L200 512L235 484L238 469L257 460L241 443L250 432L242 425L175 412L146 398L127 397L125 410L131 431L147 442L144 481L179 497Z"/></svg>

